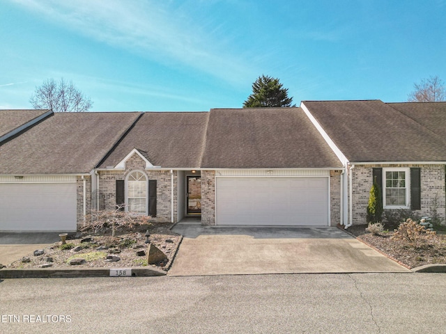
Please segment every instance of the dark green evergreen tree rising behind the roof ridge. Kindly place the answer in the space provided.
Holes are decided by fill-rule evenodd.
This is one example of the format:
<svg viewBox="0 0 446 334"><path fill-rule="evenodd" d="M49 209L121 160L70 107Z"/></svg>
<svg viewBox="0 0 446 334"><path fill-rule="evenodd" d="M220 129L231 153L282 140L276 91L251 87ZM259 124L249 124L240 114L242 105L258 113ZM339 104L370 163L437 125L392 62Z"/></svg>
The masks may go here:
<svg viewBox="0 0 446 334"><path fill-rule="evenodd" d="M288 97L288 88L284 88L279 79L262 74L252 84L252 94L243 102L243 108L295 106L291 105L292 102L293 97Z"/></svg>

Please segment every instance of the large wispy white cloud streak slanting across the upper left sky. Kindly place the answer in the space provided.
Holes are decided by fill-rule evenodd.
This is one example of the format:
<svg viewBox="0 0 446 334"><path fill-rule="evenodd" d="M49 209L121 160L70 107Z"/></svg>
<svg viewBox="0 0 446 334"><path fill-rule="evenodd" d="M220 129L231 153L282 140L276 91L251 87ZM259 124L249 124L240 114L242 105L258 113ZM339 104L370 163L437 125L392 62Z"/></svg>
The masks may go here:
<svg viewBox="0 0 446 334"><path fill-rule="evenodd" d="M224 32L206 30L209 24L194 22L175 1L13 1L89 38L156 61L190 66L226 81L238 81L234 73L252 77L249 62L224 44Z"/></svg>

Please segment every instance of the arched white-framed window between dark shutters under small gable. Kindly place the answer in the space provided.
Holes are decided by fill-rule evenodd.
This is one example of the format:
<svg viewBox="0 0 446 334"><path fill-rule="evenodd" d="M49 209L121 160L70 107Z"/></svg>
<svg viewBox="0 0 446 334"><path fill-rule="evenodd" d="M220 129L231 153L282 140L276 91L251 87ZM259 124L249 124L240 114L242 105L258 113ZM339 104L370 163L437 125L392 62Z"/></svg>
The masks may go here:
<svg viewBox="0 0 446 334"><path fill-rule="evenodd" d="M127 177L127 211L147 214L147 177L140 170L134 170Z"/></svg>

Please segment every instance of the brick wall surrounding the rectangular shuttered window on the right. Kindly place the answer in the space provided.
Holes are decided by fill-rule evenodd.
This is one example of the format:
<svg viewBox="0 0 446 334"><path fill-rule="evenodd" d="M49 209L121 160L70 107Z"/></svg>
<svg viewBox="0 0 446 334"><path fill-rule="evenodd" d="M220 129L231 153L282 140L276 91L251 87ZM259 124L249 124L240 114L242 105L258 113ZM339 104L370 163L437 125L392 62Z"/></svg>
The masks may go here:
<svg viewBox="0 0 446 334"><path fill-rule="evenodd" d="M353 168L353 225L367 223L367 205L372 185L372 168L374 167L419 167L421 168L421 215L431 215L436 201L437 212L445 218L445 166L444 165L380 165L355 166Z"/></svg>

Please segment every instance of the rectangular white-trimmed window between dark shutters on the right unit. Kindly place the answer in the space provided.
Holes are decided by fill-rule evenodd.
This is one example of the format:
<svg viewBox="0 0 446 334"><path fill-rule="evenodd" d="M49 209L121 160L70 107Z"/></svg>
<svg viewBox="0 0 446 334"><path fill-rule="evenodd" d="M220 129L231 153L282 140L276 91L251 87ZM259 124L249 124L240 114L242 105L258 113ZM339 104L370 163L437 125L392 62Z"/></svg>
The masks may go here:
<svg viewBox="0 0 446 334"><path fill-rule="evenodd" d="M409 168L383 168L383 206L385 209L409 207Z"/></svg>

